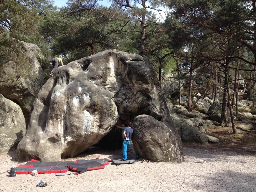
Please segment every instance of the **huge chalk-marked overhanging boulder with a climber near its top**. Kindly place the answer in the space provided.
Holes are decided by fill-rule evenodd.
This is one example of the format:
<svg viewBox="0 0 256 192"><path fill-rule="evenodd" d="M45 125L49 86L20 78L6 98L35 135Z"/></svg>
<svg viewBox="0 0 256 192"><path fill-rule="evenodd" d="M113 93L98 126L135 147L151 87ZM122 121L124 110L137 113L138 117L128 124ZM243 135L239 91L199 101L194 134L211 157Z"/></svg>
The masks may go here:
<svg viewBox="0 0 256 192"><path fill-rule="evenodd" d="M74 157L100 141L118 113L128 119L147 114L173 126L150 63L115 50L73 61L41 88L18 155L42 161Z"/></svg>

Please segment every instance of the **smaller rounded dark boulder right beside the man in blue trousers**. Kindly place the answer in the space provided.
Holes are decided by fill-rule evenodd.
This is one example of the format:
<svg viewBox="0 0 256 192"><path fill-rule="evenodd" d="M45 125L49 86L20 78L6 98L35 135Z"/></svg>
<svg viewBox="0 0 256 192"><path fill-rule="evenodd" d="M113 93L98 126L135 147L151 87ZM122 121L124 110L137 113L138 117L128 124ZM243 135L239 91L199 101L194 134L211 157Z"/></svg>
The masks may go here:
<svg viewBox="0 0 256 192"><path fill-rule="evenodd" d="M178 133L152 116L137 116L132 128L132 143L136 154L150 161L184 161Z"/></svg>

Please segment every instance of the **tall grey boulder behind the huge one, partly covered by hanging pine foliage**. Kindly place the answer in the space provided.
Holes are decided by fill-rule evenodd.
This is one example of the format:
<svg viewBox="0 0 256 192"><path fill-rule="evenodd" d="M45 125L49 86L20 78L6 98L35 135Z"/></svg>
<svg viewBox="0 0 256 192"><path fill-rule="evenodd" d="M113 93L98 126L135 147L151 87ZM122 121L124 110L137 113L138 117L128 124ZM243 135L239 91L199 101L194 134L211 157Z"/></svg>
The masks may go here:
<svg viewBox="0 0 256 192"><path fill-rule="evenodd" d="M19 104L25 116L26 124L28 125L33 102L35 101L40 88L45 83L45 75L36 58L41 54L40 49L35 44L23 41L19 42L21 44L21 49L25 53L29 62L19 65L28 66L29 70L33 72L33 75L24 79L23 77L20 77L17 66L15 66L13 61L3 64L1 73L2 78L8 80L10 75L15 74L15 76L17 76L17 82L9 83L6 81L0 81L0 93L4 95L4 97Z"/></svg>

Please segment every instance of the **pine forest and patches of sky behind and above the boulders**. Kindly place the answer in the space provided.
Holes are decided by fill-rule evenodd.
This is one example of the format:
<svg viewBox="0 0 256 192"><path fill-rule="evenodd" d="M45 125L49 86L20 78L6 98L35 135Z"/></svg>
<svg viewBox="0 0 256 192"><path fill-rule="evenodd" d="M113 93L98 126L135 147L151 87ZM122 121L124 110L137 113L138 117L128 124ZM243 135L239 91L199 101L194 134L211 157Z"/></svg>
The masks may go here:
<svg viewBox="0 0 256 192"><path fill-rule="evenodd" d="M33 78L20 41L41 49L38 59L46 74L56 56L67 64L108 49L137 53L150 61L160 82L165 81L164 74L174 75L179 98L181 80L187 78L188 111L195 107L191 98L199 92L199 99L212 94L213 101L222 101L222 125L227 125L228 107L235 133L233 110L237 117L240 80L254 107L256 1L112 0L108 4L68 0L57 8L52 0L0 0L0 72L10 60L20 71L19 77L0 77L0 81L13 84L20 76ZM200 76L207 80L194 89L193 79Z"/></svg>

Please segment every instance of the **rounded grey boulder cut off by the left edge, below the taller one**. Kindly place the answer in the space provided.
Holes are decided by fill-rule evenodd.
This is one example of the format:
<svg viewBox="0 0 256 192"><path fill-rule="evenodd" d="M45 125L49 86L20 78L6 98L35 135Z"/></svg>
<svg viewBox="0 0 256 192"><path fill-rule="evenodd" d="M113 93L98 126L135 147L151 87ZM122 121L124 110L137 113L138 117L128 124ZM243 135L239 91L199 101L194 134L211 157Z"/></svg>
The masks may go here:
<svg viewBox="0 0 256 192"><path fill-rule="evenodd" d="M0 94L0 153L15 149L26 133L20 107Z"/></svg>

